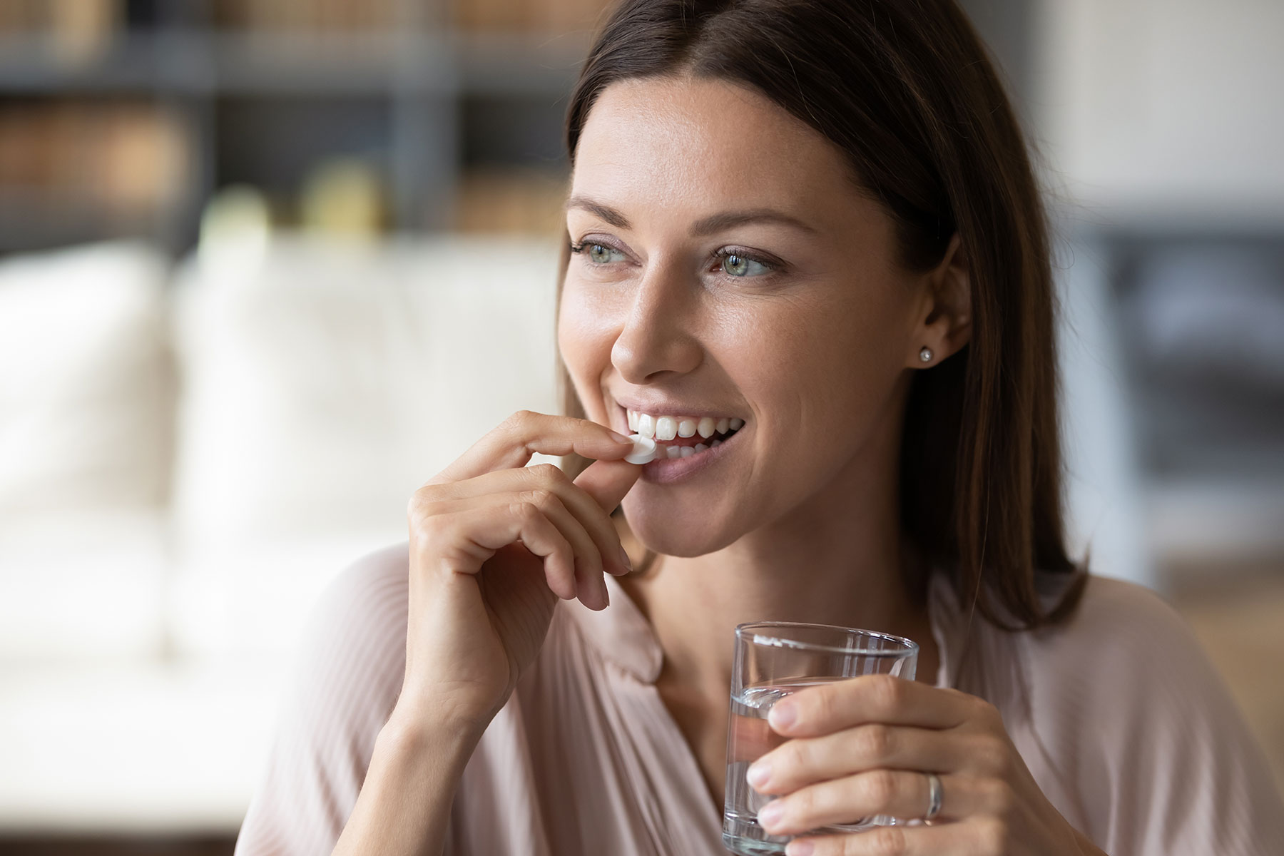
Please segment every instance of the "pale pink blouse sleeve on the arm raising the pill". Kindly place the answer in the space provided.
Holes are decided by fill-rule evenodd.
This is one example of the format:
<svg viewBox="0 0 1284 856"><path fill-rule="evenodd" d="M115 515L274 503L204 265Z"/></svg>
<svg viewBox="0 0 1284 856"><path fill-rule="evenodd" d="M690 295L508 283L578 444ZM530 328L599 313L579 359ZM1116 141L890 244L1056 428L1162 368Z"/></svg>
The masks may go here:
<svg viewBox="0 0 1284 856"><path fill-rule="evenodd" d="M322 594L235 856L334 850L401 692L407 597L407 544L358 560Z"/></svg>

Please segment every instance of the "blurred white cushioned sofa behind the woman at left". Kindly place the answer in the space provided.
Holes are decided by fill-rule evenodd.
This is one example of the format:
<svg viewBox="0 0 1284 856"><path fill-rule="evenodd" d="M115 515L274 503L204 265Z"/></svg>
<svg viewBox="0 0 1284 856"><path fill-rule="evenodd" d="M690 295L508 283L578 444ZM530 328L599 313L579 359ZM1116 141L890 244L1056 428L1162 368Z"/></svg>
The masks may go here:
<svg viewBox="0 0 1284 856"><path fill-rule="evenodd" d="M555 411L556 241L0 262L0 829L239 824L321 588Z"/></svg>

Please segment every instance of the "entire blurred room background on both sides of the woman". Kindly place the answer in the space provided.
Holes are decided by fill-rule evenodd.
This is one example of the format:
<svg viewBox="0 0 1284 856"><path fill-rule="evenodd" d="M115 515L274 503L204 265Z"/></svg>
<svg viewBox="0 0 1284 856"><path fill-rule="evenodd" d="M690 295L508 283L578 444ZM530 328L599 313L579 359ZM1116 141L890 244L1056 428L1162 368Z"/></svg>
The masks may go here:
<svg viewBox="0 0 1284 856"><path fill-rule="evenodd" d="M1058 222L1071 533L1284 782L1284 5L967 0ZM0 853L230 853L321 588L557 408L598 0L0 0Z"/></svg>

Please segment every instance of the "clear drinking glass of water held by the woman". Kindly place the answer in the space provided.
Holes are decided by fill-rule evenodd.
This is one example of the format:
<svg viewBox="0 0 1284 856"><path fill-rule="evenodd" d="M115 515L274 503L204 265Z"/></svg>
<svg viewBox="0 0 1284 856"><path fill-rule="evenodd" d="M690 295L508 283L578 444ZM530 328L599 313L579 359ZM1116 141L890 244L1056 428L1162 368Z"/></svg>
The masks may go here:
<svg viewBox="0 0 1284 856"><path fill-rule="evenodd" d="M918 644L886 633L790 621L737 626L723 807L727 850L743 856L783 853L785 844L792 841L792 835L769 835L758 825L758 811L774 797L759 794L745 780L749 765L785 742L767 724L772 705L806 687L858 675L914 680L917 665ZM877 815L813 832L855 832L899 823L904 821Z"/></svg>

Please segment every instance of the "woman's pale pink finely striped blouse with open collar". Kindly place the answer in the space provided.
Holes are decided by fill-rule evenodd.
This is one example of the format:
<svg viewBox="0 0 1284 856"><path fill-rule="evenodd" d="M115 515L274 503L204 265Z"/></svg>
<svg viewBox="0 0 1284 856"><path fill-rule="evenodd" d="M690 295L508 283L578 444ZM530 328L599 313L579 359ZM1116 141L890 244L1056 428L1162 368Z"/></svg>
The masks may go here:
<svg viewBox="0 0 1284 856"><path fill-rule="evenodd" d="M330 586L236 856L334 848L401 689L407 575L399 544ZM606 580L602 612L559 602L538 658L465 769L447 856L727 852L720 811L655 688L660 644ZM936 684L996 705L1044 794L1107 853L1284 855L1284 806L1263 755L1156 594L1091 578L1068 622L1011 634L960 610L937 574L928 610Z"/></svg>

